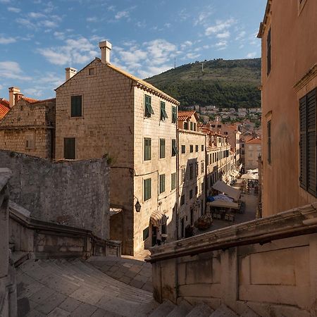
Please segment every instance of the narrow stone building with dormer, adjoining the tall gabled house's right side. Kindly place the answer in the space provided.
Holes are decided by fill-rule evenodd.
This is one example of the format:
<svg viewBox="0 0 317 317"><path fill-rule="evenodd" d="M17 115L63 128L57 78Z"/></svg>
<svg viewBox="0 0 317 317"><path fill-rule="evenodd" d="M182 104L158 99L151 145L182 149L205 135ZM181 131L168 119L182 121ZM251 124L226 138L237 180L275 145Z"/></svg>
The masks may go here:
<svg viewBox="0 0 317 317"><path fill-rule="evenodd" d="M196 111L178 112L179 238L205 211L206 134L197 119Z"/></svg>

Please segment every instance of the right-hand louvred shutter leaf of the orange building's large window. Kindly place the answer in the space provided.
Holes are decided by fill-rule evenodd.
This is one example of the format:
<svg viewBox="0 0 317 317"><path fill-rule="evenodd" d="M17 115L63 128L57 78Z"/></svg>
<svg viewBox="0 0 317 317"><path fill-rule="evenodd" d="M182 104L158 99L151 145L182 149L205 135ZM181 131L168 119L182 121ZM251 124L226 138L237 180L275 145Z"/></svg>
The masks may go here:
<svg viewBox="0 0 317 317"><path fill-rule="evenodd" d="M307 190L316 196L316 89L306 95L307 104Z"/></svg>

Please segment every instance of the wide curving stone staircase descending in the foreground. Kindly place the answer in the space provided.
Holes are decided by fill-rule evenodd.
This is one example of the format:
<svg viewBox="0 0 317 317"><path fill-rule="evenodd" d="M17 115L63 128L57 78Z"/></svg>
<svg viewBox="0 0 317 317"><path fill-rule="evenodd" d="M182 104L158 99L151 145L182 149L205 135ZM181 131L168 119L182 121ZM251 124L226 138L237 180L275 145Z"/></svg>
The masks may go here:
<svg viewBox="0 0 317 317"><path fill-rule="evenodd" d="M17 268L18 316L233 317L226 306L216 311L154 301L152 293L127 285L80 259L27 260ZM244 317L254 317L256 314Z"/></svg>

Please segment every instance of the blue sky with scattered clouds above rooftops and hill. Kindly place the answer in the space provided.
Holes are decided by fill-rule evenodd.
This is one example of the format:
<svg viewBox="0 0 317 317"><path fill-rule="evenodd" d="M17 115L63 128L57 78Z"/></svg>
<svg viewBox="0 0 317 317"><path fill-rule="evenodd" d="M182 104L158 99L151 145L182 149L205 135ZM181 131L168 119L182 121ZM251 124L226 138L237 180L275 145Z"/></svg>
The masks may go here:
<svg viewBox="0 0 317 317"><path fill-rule="evenodd" d="M55 97L65 68L112 43L111 63L145 78L213 58L261 55L266 0L0 0L0 97Z"/></svg>

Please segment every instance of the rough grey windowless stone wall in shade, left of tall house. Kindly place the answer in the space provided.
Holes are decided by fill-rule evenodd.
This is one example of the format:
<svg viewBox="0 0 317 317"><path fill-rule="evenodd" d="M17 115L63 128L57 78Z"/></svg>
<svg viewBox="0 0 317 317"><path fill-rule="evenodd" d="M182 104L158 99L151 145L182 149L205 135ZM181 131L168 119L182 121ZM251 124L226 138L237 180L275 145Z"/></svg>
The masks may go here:
<svg viewBox="0 0 317 317"><path fill-rule="evenodd" d="M32 218L92 230L109 237L109 170L105 159L56 161L0 151L10 168L11 199Z"/></svg>

